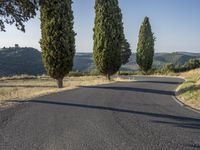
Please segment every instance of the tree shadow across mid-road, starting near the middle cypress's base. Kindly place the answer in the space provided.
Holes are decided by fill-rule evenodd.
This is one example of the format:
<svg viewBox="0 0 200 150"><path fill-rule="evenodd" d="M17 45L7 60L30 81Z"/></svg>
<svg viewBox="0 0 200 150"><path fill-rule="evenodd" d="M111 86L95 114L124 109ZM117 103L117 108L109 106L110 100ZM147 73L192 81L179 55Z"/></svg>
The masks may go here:
<svg viewBox="0 0 200 150"><path fill-rule="evenodd" d="M175 96L174 91L164 91L164 90L157 90L157 89L134 88L134 87L115 87L115 86L80 86L80 87L88 88L88 89L106 89L106 90L130 91L130 92L153 93L153 94L160 94L160 95Z"/></svg>

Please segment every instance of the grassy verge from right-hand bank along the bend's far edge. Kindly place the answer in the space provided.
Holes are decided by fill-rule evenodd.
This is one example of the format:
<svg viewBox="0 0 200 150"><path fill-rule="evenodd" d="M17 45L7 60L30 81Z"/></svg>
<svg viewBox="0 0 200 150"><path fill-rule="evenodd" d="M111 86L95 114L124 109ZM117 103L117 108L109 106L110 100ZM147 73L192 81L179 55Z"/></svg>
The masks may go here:
<svg viewBox="0 0 200 150"><path fill-rule="evenodd" d="M123 72L126 75L140 76L138 72ZM186 81L177 89L177 98L184 104L200 110L200 69L191 70L183 73L168 72L149 72L148 76L153 77L179 77Z"/></svg>

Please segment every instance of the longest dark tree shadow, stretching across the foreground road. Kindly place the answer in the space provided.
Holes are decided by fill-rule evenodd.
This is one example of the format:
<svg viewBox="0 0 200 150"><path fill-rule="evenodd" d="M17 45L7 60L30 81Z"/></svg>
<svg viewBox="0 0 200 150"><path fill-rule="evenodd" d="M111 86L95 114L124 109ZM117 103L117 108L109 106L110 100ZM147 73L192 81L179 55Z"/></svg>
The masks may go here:
<svg viewBox="0 0 200 150"><path fill-rule="evenodd" d="M16 102L16 101L10 101L10 102ZM44 104L44 105L60 105L60 106L79 108L79 109L127 113L131 115L136 115L136 116L139 115L139 116L149 117L149 120L153 120L152 122L154 123L167 124L167 125L172 125L175 127L188 128L188 129L200 129L199 118L184 117L184 116L169 115L169 114L159 114L159 113L143 112L143 111L134 111L134 110L123 109L123 108L96 106L96 105L89 105L89 104L66 103L66 102L58 102L58 101L46 101L46 100L17 101L17 103L26 103L26 102L35 103L35 104ZM155 119L159 121L155 121ZM163 119L165 119L166 121L163 121Z"/></svg>

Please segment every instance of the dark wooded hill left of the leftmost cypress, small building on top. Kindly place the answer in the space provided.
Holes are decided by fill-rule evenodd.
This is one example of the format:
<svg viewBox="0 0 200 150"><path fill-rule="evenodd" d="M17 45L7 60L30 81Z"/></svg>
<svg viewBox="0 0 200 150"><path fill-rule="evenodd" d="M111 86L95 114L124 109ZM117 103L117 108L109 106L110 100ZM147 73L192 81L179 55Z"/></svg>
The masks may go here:
<svg viewBox="0 0 200 150"><path fill-rule="evenodd" d="M34 48L4 48L0 50L0 76L41 75L45 72L41 53Z"/></svg>

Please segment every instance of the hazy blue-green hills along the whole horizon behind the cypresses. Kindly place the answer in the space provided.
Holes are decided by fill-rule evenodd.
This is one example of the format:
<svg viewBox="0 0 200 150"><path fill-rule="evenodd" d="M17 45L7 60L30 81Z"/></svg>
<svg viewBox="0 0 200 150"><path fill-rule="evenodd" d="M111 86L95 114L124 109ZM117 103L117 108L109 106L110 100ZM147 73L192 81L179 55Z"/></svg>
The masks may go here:
<svg viewBox="0 0 200 150"><path fill-rule="evenodd" d="M175 52L156 53L154 67L161 67L166 63L182 65L189 59L200 58L200 53ZM74 70L89 72L95 69L92 53L77 53L74 59ZM137 70L136 55L132 54L130 62L122 66L121 70ZM13 75L42 75L45 74L40 51L34 48L3 48L0 49L0 76Z"/></svg>

